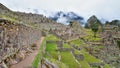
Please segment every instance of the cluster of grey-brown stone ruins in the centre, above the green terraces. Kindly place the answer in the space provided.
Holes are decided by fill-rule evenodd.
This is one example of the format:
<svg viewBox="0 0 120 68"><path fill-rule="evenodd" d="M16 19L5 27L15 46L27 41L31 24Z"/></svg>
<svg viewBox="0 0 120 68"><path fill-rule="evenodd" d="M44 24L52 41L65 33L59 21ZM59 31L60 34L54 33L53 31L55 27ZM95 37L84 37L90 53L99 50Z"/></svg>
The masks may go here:
<svg viewBox="0 0 120 68"><path fill-rule="evenodd" d="M77 32L71 28L65 29L53 29L49 31L50 33L54 34L55 36L61 38L64 41L67 40L74 40L80 37L80 32Z"/></svg>

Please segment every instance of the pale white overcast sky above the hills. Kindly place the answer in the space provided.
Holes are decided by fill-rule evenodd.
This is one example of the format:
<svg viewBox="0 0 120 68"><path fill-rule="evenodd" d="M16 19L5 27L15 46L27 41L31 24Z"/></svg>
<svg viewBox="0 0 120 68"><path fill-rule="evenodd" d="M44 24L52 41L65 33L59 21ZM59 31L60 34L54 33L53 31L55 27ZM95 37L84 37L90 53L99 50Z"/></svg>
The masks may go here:
<svg viewBox="0 0 120 68"><path fill-rule="evenodd" d="M109 21L120 20L120 0L0 0L0 3L15 11L27 11L29 8L73 11L85 19L96 15Z"/></svg>

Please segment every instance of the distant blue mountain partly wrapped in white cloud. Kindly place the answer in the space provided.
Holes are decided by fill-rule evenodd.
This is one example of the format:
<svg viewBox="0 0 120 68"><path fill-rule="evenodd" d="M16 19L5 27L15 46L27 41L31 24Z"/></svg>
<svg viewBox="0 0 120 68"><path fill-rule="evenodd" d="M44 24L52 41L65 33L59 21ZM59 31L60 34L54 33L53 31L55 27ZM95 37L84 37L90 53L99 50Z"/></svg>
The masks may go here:
<svg viewBox="0 0 120 68"><path fill-rule="evenodd" d="M49 16L49 18L56 22L60 22L63 24L69 24L70 21L73 21L73 20L80 22L80 24L82 24L82 25L84 24L83 23L84 18L74 12L59 11L59 12L56 12L53 15Z"/></svg>

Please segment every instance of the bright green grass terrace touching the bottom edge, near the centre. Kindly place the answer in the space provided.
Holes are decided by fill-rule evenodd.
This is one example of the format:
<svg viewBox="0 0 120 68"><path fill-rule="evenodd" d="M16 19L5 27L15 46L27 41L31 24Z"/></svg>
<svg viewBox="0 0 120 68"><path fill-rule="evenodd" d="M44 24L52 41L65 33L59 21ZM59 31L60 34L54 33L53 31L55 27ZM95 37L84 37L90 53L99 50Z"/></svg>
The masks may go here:
<svg viewBox="0 0 120 68"><path fill-rule="evenodd" d="M61 52L61 62L69 66L69 68L80 68L70 52Z"/></svg>

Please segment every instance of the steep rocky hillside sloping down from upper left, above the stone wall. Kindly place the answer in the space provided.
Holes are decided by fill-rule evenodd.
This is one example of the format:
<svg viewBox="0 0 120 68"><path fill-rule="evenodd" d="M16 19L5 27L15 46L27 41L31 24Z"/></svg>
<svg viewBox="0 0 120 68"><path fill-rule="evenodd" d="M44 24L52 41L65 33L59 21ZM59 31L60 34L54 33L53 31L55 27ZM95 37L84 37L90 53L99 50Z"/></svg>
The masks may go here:
<svg viewBox="0 0 120 68"><path fill-rule="evenodd" d="M11 11L2 4L0 4L0 10L0 18L16 21L17 23L22 23L45 30L65 27L64 25L56 23L43 15Z"/></svg>

